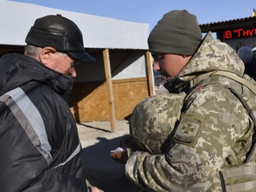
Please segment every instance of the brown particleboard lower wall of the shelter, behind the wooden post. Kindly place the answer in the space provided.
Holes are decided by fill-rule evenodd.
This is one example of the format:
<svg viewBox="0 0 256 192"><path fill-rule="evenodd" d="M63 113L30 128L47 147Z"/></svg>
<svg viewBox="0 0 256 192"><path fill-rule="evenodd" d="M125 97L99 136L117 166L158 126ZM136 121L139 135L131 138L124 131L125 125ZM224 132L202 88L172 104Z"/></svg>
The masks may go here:
<svg viewBox="0 0 256 192"><path fill-rule="evenodd" d="M116 119L129 119L141 99L150 96L146 77L113 80ZM75 83L70 109L77 122L110 120L109 93L106 83Z"/></svg>

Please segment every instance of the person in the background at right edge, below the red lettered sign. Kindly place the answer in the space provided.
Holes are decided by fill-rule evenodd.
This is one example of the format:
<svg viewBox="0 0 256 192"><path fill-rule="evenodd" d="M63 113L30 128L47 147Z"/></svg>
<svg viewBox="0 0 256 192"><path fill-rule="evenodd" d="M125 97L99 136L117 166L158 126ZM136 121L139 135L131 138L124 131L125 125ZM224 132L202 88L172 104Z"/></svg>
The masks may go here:
<svg viewBox="0 0 256 192"><path fill-rule="evenodd" d="M244 73L256 79L256 63L253 59L252 49L248 46L241 47L237 52L239 58L244 62Z"/></svg>

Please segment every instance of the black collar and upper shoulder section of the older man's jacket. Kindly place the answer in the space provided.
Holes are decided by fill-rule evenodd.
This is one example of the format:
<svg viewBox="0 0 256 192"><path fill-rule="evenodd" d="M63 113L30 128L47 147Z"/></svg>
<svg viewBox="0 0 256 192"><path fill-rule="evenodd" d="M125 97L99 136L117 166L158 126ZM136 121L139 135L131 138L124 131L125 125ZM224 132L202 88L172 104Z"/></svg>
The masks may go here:
<svg viewBox="0 0 256 192"><path fill-rule="evenodd" d="M0 95L23 86L30 81L47 84L67 102L73 88L74 79L58 73L32 57L22 54L6 54L0 59Z"/></svg>

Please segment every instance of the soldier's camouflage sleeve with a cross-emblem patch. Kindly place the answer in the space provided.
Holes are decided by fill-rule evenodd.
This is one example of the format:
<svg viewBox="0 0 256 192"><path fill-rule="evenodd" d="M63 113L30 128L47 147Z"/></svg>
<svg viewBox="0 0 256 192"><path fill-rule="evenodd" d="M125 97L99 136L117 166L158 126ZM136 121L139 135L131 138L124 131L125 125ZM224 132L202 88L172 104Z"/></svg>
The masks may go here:
<svg viewBox="0 0 256 192"><path fill-rule="evenodd" d="M252 127L237 97L209 85L185 104L169 150L160 155L137 151L125 165L126 176L147 191L222 191L219 171L226 157L244 159L247 151L240 148L250 142Z"/></svg>

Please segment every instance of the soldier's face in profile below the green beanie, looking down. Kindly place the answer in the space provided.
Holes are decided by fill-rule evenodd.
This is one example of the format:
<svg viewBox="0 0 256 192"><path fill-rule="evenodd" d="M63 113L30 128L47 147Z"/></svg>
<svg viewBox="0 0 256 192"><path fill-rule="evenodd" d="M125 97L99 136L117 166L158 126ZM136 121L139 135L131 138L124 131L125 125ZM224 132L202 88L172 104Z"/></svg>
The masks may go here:
<svg viewBox="0 0 256 192"><path fill-rule="evenodd" d="M186 65L191 56L151 53L154 58L153 70L163 75L167 81L173 79Z"/></svg>

